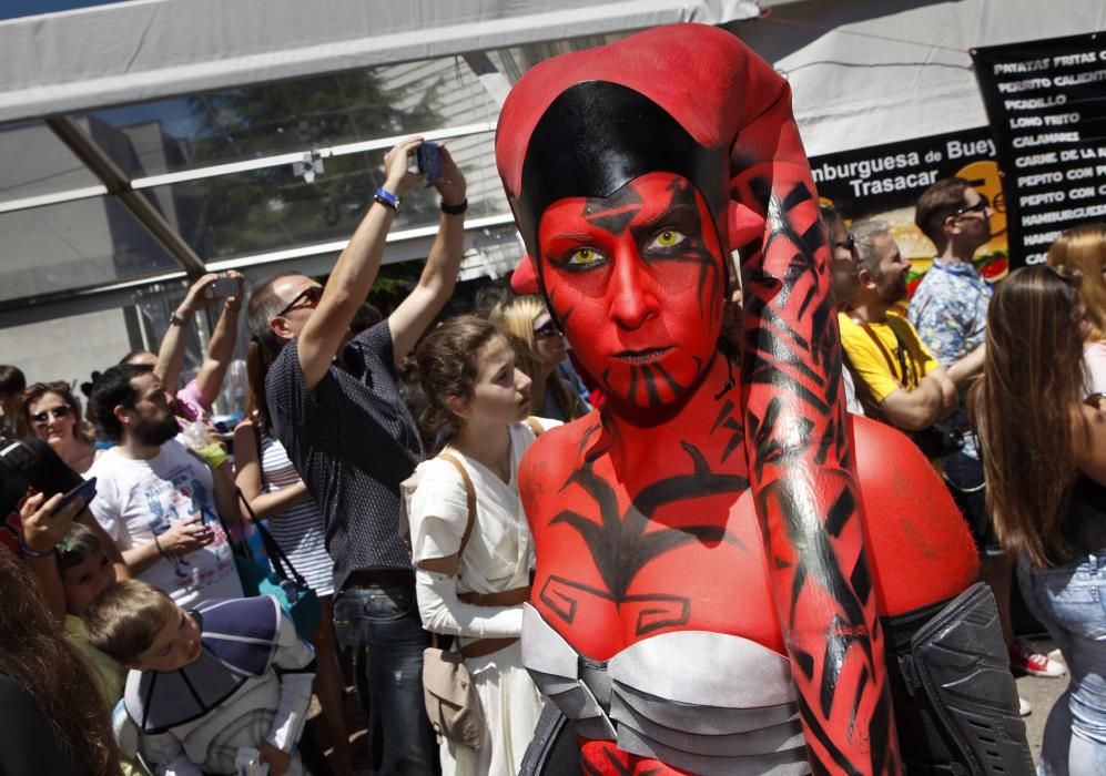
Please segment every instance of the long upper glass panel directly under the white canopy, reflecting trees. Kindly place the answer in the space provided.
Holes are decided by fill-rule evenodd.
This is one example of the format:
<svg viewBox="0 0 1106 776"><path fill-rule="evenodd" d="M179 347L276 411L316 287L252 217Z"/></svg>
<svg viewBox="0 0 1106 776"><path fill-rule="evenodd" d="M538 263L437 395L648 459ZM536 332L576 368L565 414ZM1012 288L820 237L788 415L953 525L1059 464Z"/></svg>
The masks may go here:
<svg viewBox="0 0 1106 776"><path fill-rule="evenodd" d="M494 122L498 112L464 59L448 57L114 108L89 119L124 172L144 177Z"/></svg>

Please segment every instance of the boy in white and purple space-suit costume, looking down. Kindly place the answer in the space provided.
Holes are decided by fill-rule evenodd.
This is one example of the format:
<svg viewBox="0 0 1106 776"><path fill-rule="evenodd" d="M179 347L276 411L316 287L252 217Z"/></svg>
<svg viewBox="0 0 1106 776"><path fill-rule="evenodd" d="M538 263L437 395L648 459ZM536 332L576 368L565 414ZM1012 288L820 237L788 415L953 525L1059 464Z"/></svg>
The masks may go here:
<svg viewBox="0 0 1106 776"><path fill-rule="evenodd" d="M271 776L295 753L315 656L274 599L212 600L186 612L145 582L110 585L84 612L89 642L130 668L115 709L122 748L156 774L233 774L260 752Z"/></svg>

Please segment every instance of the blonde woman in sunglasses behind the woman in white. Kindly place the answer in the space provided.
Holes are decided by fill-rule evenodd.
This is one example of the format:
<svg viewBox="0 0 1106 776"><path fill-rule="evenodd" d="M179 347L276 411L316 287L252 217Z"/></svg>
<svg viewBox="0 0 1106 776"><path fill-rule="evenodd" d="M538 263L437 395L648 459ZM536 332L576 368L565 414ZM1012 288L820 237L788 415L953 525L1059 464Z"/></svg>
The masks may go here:
<svg viewBox="0 0 1106 776"><path fill-rule="evenodd" d="M567 354L565 336L540 297L516 296L497 305L490 319L530 348L536 365L529 376L532 415L568 422L588 412L590 408L580 398L577 386L571 385L577 379L575 372L562 371Z"/></svg>

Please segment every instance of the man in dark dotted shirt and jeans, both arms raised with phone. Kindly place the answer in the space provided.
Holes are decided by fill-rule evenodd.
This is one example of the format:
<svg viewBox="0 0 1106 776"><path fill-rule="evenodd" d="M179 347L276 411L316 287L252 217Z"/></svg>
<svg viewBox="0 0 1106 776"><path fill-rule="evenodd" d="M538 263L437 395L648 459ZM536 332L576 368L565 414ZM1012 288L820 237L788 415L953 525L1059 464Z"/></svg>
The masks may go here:
<svg viewBox="0 0 1106 776"><path fill-rule="evenodd" d="M334 559L334 623L358 651L368 698L373 772L430 774L436 746L423 705L423 650L410 553L399 538L399 484L424 458L396 367L453 294L460 267L465 178L442 149L438 234L418 284L386 319L353 336L400 198L426 176L408 171L420 137L384 157L384 184L326 286L285 274L258 287L248 320L271 363L267 407L326 527ZM358 682L358 686L362 683Z"/></svg>

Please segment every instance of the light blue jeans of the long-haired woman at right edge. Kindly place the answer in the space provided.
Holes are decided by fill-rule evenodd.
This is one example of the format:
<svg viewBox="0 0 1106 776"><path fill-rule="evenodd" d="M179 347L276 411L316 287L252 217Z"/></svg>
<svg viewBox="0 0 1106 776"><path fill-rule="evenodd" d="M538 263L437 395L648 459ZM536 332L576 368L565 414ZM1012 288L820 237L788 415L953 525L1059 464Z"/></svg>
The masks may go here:
<svg viewBox="0 0 1106 776"><path fill-rule="evenodd" d="M1037 773L1106 774L1106 550L1053 569L1023 558L1017 581L1072 672L1048 714Z"/></svg>

